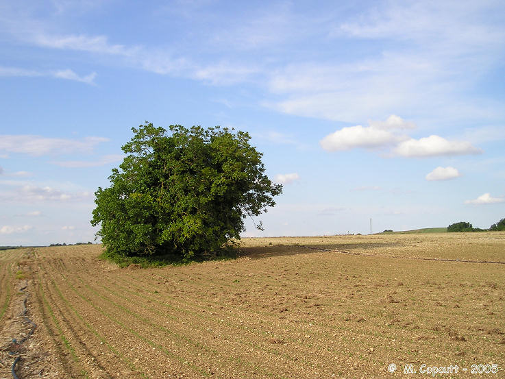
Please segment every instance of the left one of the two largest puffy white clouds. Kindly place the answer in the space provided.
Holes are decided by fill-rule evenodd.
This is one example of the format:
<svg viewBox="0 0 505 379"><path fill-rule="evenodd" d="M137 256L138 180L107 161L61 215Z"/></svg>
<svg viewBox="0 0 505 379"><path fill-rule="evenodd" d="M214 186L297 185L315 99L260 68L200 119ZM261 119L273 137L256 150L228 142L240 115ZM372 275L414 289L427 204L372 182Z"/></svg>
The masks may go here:
<svg viewBox="0 0 505 379"><path fill-rule="evenodd" d="M363 127L356 125L343 127L332 134L325 136L319 144L326 151L341 151L354 149L355 147L384 147L398 143L406 137L390 132L389 130L378 129L377 127Z"/></svg>

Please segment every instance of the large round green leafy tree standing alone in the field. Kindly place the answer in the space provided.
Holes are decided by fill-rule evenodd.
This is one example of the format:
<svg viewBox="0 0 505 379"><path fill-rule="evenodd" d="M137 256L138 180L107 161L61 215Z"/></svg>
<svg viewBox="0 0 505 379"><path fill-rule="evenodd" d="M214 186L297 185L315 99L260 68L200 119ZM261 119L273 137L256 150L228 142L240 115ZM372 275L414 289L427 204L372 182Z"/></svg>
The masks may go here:
<svg viewBox="0 0 505 379"><path fill-rule="evenodd" d="M92 225L109 255L220 255L240 239L244 219L282 193L264 174L249 134L220 127L132 128L110 187L95 192ZM262 229L261 223L257 225Z"/></svg>

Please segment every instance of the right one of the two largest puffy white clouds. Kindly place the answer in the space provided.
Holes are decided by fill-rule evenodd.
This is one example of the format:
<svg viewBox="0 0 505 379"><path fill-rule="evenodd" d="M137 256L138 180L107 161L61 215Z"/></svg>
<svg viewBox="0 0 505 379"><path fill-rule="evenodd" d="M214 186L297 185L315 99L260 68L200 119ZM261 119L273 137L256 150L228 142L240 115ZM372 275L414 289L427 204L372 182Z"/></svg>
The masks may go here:
<svg viewBox="0 0 505 379"><path fill-rule="evenodd" d="M395 154L404 157L457 156L466 154L482 154L482 149L473 147L466 141L449 141L441 136L432 135L416 140L404 140L393 150Z"/></svg>

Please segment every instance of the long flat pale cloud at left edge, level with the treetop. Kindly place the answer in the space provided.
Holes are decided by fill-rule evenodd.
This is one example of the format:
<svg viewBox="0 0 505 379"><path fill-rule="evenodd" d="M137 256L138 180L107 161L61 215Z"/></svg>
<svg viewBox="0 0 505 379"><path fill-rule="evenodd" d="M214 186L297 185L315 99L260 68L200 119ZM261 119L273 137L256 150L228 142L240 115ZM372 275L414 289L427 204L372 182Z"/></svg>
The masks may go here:
<svg viewBox="0 0 505 379"><path fill-rule="evenodd" d="M32 156L46 154L73 154L76 151L89 153L108 138L87 137L84 140L65 138L45 138L32 135L0 135L0 151L23 153Z"/></svg>

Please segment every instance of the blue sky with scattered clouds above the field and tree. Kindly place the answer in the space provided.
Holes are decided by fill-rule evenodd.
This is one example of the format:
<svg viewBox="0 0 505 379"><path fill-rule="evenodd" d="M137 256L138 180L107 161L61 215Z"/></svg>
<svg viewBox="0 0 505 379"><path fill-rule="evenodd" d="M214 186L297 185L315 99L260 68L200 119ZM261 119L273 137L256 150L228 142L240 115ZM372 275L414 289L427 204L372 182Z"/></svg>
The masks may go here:
<svg viewBox="0 0 505 379"><path fill-rule="evenodd" d="M249 132L243 236L505 217L503 1L0 0L0 245L93 241L132 127Z"/></svg>

